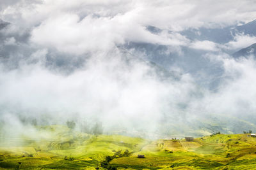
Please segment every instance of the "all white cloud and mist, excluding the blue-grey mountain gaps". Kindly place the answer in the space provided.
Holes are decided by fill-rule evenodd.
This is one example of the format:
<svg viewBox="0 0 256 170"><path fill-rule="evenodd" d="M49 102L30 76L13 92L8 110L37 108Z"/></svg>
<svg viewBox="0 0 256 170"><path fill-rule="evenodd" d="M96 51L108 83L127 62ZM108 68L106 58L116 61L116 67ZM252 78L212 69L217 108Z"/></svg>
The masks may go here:
<svg viewBox="0 0 256 170"><path fill-rule="evenodd" d="M26 48L25 54L13 54L17 58L28 57L24 60L29 64L20 62L15 69L9 70L4 62L1 63L0 105L7 112L26 113L29 117L48 115L57 121L65 121L77 113L90 120L101 119L106 126L113 122L132 129L136 124L148 131L157 129L164 114L175 117L168 120L175 123L182 114L188 115L188 119L200 113L234 115L244 108L255 113L253 59L237 61L226 55L212 57L209 62L218 59L221 63L218 62L218 66L225 69L221 76L231 77L221 80L226 84L221 83L222 86L213 93L197 87L193 77L182 71L180 79L160 80L154 67L132 60L140 56L131 56L130 59L116 48L130 41L166 45L168 57L172 57L173 51L182 53L182 46L209 52L218 52L221 48L243 48L254 43L255 37L237 34L234 41L220 46L207 40L191 41L180 31L248 22L256 17L255 3L238 0L6 3L0 16L12 25L0 32L11 37L4 41L5 45L17 43L28 32L29 41L24 44L31 51ZM148 25L161 31L150 32ZM12 38L13 34L20 39ZM17 48L22 48L22 45L18 44ZM84 57L85 66L63 75L56 68L49 71L44 66L51 62L47 57L54 56L55 49L68 57L85 53L90 53L90 57ZM17 60L10 61L15 65L19 63ZM214 66L217 62L212 63ZM242 104L237 104L241 100ZM243 104L248 105L244 107ZM180 105L184 107L180 108ZM148 129L148 124L152 129Z"/></svg>

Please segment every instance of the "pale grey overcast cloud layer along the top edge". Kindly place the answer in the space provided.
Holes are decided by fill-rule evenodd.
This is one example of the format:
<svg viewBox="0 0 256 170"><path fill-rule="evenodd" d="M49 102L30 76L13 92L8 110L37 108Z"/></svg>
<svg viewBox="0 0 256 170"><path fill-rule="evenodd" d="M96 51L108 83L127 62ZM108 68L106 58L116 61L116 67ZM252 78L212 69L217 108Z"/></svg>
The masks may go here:
<svg viewBox="0 0 256 170"><path fill-rule="evenodd" d="M16 1L2 10L2 18L36 25L51 16L73 13L81 17L115 17L133 13L139 25L154 25L161 29L183 29L236 24L255 18L255 1ZM209 8L211 6L211 8ZM17 19L21 19L20 21Z"/></svg>

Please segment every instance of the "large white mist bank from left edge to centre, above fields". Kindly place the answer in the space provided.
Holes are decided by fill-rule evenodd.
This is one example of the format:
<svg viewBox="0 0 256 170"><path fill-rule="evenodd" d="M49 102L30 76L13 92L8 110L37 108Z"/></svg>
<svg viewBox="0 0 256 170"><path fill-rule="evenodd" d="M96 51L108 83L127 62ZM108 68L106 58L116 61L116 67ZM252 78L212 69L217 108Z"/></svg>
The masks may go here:
<svg viewBox="0 0 256 170"><path fill-rule="evenodd" d="M111 53L111 55L118 53ZM110 56L111 56L110 55ZM65 123L74 118L97 120L106 131L122 124L132 130L154 132L163 112L179 115L179 103L186 103L195 90L189 75L179 81L160 81L145 62L110 57L90 60L81 71L69 76L54 74L38 65L1 70L0 104L3 117L51 117L49 122ZM170 120L172 121L172 120ZM111 124L109 124L111 122ZM151 124L148 127L146 124Z"/></svg>

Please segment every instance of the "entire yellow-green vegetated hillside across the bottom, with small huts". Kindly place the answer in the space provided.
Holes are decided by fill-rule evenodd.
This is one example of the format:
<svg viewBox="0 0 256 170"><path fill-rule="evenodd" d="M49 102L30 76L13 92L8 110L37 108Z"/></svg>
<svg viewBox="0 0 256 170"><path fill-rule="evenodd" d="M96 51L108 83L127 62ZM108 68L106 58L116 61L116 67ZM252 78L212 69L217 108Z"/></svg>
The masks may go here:
<svg viewBox="0 0 256 170"><path fill-rule="evenodd" d="M0 169L256 169L256 138L248 134L150 141L60 125L37 133L2 139Z"/></svg>

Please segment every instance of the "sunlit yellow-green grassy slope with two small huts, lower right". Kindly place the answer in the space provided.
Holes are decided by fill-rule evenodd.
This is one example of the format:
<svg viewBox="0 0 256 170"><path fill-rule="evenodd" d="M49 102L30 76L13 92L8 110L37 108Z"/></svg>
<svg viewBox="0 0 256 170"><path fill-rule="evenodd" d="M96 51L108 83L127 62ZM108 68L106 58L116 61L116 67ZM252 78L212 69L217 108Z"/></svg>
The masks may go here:
<svg viewBox="0 0 256 170"><path fill-rule="evenodd" d="M159 140L145 146L140 154L145 159L122 157L111 161L113 166L166 169L256 169L256 139L246 134L216 134L193 142Z"/></svg>

